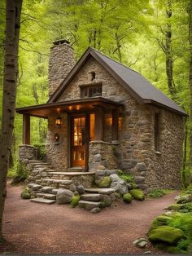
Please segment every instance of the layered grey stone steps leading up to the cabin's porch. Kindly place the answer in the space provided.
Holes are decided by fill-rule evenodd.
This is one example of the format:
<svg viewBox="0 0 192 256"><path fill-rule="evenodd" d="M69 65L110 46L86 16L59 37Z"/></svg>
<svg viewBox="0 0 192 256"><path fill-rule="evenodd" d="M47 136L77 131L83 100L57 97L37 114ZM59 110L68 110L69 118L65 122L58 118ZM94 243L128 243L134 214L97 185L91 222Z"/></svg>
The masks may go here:
<svg viewBox="0 0 192 256"><path fill-rule="evenodd" d="M94 172L84 172L81 168L69 168L68 171L56 171L50 163L29 161L31 171L27 179L32 198L30 201L51 205L56 202L59 188L73 191L76 184L81 184L85 192L81 194L78 206L81 209L92 210L109 206L116 200L115 190L111 188L91 188Z"/></svg>

